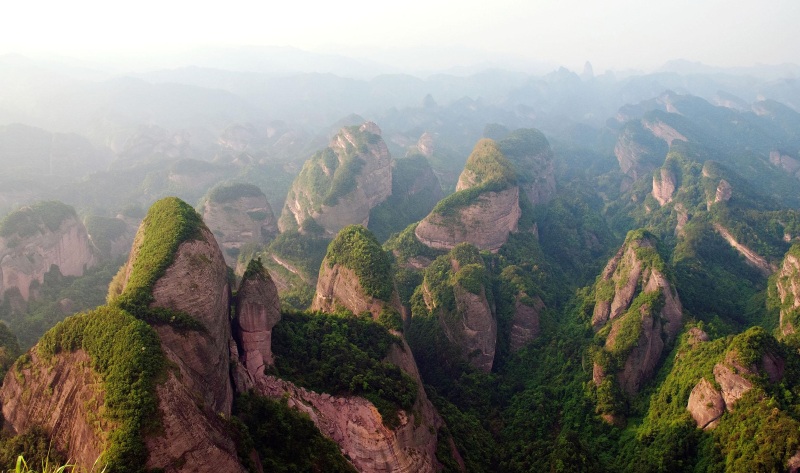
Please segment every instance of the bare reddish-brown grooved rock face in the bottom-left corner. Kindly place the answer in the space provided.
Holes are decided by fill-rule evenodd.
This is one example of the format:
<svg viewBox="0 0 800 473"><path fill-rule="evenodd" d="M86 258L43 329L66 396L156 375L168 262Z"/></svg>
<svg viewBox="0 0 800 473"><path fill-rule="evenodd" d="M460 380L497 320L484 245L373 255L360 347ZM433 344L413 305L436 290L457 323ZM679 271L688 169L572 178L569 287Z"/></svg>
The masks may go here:
<svg viewBox="0 0 800 473"><path fill-rule="evenodd" d="M28 356L30 361L12 368L0 388L4 428L23 433L42 426L56 448L64 449L76 464L91 466L105 450L106 433L114 426L97 412L104 393L89 356L83 350L52 362L42 360L36 350Z"/></svg>

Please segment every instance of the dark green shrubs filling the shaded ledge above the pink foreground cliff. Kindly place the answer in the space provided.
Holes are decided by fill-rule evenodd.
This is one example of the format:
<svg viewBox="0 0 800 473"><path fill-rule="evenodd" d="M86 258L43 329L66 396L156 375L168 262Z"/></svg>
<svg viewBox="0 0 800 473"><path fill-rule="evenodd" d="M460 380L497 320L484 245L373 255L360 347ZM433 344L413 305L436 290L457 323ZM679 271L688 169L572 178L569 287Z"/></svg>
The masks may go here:
<svg viewBox="0 0 800 473"><path fill-rule="evenodd" d="M383 361L400 341L369 318L322 313L285 313L272 330L272 374L333 395L363 396L389 427L409 410L417 386L397 366Z"/></svg>

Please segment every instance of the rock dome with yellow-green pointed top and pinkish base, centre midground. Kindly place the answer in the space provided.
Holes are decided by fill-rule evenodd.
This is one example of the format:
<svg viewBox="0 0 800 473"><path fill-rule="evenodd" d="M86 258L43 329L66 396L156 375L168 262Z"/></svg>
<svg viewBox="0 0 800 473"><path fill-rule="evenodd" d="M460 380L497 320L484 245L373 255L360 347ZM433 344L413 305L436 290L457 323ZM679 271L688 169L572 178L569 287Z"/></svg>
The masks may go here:
<svg viewBox="0 0 800 473"><path fill-rule="evenodd" d="M452 249L466 242L497 251L518 229L519 192L513 166L497 143L481 140L458 179L456 193L433 208L415 235L431 248Z"/></svg>

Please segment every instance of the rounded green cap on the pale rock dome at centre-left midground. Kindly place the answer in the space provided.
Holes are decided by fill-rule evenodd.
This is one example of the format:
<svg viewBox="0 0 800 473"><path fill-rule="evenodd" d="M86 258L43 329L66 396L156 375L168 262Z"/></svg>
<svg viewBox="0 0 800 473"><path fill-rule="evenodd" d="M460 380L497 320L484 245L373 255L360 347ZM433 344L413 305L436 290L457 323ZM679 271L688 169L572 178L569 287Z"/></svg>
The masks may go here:
<svg viewBox="0 0 800 473"><path fill-rule="evenodd" d="M328 245L328 266L352 269L368 296L389 301L394 289L392 260L369 230L361 225L344 227Z"/></svg>

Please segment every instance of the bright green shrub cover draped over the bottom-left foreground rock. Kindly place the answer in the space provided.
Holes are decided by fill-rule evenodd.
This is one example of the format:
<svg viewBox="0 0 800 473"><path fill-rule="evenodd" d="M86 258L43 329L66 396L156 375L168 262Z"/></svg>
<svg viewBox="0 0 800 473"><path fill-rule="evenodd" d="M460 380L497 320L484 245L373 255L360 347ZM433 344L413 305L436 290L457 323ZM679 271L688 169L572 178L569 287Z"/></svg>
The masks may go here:
<svg viewBox="0 0 800 473"><path fill-rule="evenodd" d="M102 379L102 415L115 426L102 461L109 472L144 471L143 435L158 427L155 386L164 368L155 330L117 307L99 307L59 322L37 347L45 360L60 352L86 351Z"/></svg>

